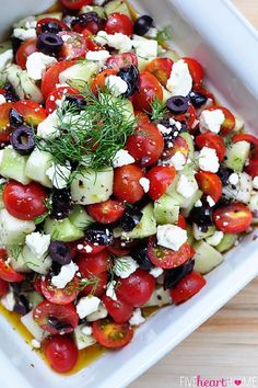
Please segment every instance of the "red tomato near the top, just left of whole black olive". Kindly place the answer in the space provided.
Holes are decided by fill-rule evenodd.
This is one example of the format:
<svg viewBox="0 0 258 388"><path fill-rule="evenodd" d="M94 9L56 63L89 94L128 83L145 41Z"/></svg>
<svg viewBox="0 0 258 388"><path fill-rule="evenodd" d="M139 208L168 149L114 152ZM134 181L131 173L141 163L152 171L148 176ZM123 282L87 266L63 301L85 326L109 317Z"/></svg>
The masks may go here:
<svg viewBox="0 0 258 388"><path fill-rule="evenodd" d="M133 33L133 25L131 19L124 13L113 13L108 16L105 31L107 34L121 33L131 36Z"/></svg>

